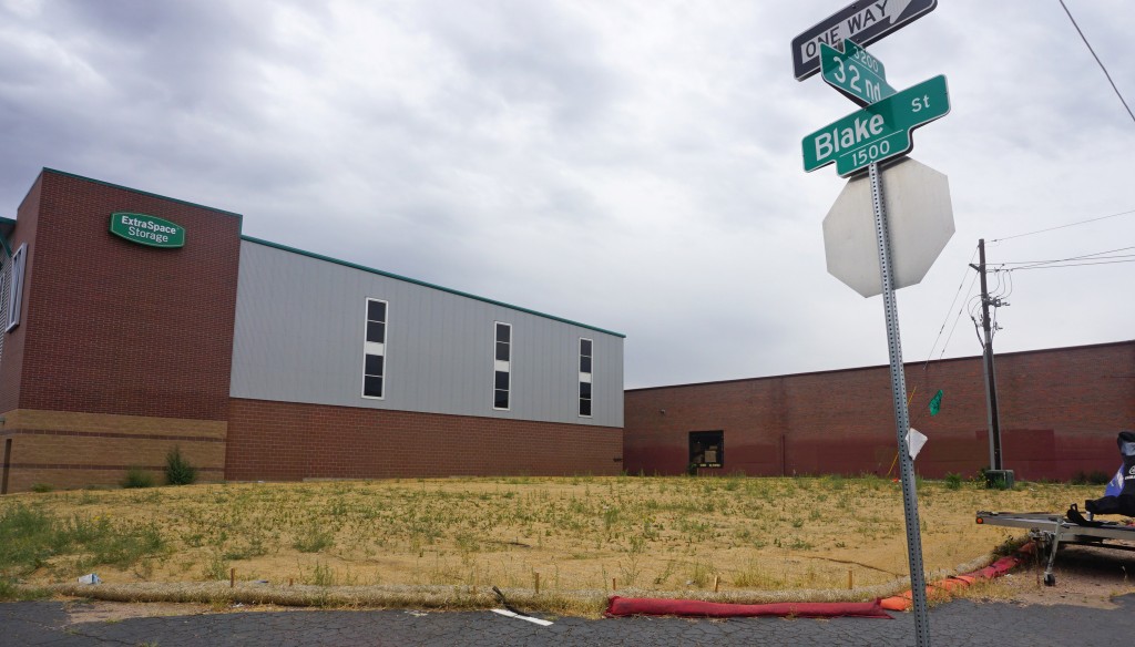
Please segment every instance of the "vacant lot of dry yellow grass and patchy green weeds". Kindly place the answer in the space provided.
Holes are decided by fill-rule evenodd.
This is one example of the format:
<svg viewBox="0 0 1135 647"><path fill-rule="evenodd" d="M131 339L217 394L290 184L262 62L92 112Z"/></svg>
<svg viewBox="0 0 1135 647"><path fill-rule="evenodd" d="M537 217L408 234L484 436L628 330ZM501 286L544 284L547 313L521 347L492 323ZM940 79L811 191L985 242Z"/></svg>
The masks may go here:
<svg viewBox="0 0 1135 647"><path fill-rule="evenodd" d="M1020 532L977 510L1062 511L1100 486L918 484L928 571ZM902 496L877 478L496 478L200 485L0 498L0 575L552 591L825 589L907 573Z"/></svg>

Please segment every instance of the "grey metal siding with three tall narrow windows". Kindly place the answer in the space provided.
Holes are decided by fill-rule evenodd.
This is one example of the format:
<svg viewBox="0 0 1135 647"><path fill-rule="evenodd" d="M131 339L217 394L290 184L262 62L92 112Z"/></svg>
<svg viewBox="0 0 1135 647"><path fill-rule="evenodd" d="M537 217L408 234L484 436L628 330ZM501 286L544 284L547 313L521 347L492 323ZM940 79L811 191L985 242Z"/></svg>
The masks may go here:
<svg viewBox="0 0 1135 647"><path fill-rule="evenodd" d="M388 303L385 398L362 397L365 300ZM493 409L495 321L512 325L510 411ZM580 418L579 338L594 341ZM623 341L279 250L241 243L233 397L623 426Z"/></svg>

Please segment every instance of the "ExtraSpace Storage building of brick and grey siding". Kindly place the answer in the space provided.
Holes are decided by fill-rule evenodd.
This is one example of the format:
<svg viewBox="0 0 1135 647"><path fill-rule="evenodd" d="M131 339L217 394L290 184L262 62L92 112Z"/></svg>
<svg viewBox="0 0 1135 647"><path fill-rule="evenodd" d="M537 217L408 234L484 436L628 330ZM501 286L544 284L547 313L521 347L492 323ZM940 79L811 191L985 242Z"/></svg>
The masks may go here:
<svg viewBox="0 0 1135 647"><path fill-rule="evenodd" d="M0 218L0 491L617 473L623 336L43 169Z"/></svg>

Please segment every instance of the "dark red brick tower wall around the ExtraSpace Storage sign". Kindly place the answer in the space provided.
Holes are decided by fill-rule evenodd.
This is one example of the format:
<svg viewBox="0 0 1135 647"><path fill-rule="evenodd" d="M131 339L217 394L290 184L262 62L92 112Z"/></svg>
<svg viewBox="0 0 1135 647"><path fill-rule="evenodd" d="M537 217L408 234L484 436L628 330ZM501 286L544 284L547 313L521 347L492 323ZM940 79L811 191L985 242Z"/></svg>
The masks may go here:
<svg viewBox="0 0 1135 647"><path fill-rule="evenodd" d="M114 236L115 211L176 222L185 246ZM17 216L14 243L34 241L0 411L224 420L239 234L236 215L45 169Z"/></svg>

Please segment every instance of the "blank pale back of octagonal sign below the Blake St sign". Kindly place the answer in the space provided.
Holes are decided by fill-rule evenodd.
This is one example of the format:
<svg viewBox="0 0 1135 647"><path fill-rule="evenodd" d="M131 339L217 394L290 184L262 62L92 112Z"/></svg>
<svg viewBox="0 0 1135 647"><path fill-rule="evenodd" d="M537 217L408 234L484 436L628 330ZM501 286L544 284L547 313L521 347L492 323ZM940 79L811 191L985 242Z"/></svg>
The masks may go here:
<svg viewBox="0 0 1135 647"><path fill-rule="evenodd" d="M928 166L905 158L881 170L891 238L894 289L926 276L953 236L950 183ZM875 240L871 179L848 180L824 218L827 272L864 296L883 293Z"/></svg>

